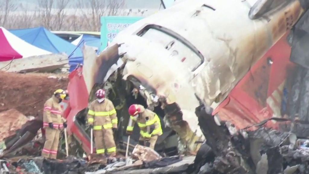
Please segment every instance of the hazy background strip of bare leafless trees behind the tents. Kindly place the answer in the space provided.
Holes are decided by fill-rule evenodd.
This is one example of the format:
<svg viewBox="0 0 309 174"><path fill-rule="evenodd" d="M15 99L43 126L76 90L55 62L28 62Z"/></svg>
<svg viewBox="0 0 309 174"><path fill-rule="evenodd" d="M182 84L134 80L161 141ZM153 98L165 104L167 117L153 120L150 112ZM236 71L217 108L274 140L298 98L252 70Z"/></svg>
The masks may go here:
<svg viewBox="0 0 309 174"><path fill-rule="evenodd" d="M49 30L99 31L101 16L135 13L130 9L124 10L125 0L36 2L37 6L33 6L19 0L0 0L0 26L7 29L44 26ZM70 4L72 7L68 7Z"/></svg>

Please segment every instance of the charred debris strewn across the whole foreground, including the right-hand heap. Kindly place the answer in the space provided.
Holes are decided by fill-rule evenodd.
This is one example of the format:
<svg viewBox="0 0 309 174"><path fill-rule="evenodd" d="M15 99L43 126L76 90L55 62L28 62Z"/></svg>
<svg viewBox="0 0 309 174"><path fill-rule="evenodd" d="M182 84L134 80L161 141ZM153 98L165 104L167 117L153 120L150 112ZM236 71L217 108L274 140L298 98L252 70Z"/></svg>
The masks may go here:
<svg viewBox="0 0 309 174"><path fill-rule="evenodd" d="M29 127L27 125L35 122L32 120L19 130L18 135L22 133L20 139L16 140L14 136L11 137L13 144L18 144L19 141L28 143L19 148L13 148L14 145L11 146L8 143L11 151L2 156L0 173L116 174L124 171L126 173L182 174L309 173L309 141L307 139L298 139L292 132L265 128L265 122L271 119L254 125L257 127L254 131L247 129L235 131L232 124L223 121L216 122L209 113L204 105L196 109L201 130L207 137L196 156L161 157L155 151L149 151L147 147L137 145L132 152L134 161L129 165L126 165L125 158L121 155L112 159L93 156L89 160L87 157L69 156L65 158L64 155L60 159L44 159L40 157L40 150L43 146L42 137L35 137L32 141L24 140L28 137L33 138L30 130L24 131ZM281 121L290 120L281 119ZM153 157L149 153L153 154ZM142 156L142 159L138 158Z"/></svg>

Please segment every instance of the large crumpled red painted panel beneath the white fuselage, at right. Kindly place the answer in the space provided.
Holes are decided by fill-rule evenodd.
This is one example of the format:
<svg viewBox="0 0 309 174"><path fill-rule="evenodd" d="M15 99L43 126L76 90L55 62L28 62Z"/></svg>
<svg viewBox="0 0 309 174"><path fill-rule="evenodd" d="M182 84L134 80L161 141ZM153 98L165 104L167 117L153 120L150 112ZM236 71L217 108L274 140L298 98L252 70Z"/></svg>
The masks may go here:
<svg viewBox="0 0 309 174"><path fill-rule="evenodd" d="M294 69L286 33L235 86L213 112L222 120L245 128L271 117L281 117L281 101L286 78ZM277 128L269 121L268 127Z"/></svg>

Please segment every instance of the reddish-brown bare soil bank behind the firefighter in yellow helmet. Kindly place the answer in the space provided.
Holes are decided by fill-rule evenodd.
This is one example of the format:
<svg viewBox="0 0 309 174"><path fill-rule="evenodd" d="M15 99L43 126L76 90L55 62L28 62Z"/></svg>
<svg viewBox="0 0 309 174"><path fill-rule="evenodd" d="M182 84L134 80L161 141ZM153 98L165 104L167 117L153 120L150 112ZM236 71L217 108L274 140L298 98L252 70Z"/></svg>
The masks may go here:
<svg viewBox="0 0 309 174"><path fill-rule="evenodd" d="M16 109L26 116L41 116L44 102L56 89L66 89L68 82L67 76L0 71L0 112Z"/></svg>

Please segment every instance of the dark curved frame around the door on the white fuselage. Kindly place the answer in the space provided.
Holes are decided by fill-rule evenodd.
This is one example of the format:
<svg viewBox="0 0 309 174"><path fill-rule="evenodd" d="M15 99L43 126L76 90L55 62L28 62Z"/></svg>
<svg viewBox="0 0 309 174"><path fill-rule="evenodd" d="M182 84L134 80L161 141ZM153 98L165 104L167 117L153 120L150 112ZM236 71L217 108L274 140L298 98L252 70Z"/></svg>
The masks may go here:
<svg viewBox="0 0 309 174"><path fill-rule="evenodd" d="M165 33L165 34L167 34L171 37L174 37L176 40L180 41L182 44L184 44L190 50L192 50L201 59L201 62L199 64L197 64L197 66L194 67L191 70L192 72L197 70L197 68L200 67L205 62L205 58L204 58L203 54L201 54L201 52L192 43L190 43L187 39L185 39L184 37L180 36L179 34L173 32L170 29L164 28L164 27L159 26L159 25L150 24L150 25L146 25L144 28L142 28L136 35L138 35L139 37L142 37L143 34L146 33L149 29L155 29L155 30L161 31L161 32L163 32L163 33Z"/></svg>

